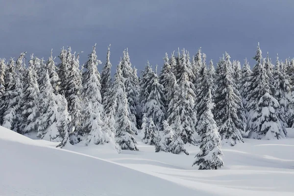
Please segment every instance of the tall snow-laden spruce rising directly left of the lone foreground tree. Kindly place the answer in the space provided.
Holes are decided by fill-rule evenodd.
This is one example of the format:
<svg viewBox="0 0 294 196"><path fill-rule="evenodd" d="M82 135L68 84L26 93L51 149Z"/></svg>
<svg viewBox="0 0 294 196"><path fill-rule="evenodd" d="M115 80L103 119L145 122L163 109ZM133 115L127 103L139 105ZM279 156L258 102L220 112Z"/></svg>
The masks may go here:
<svg viewBox="0 0 294 196"><path fill-rule="evenodd" d="M186 64L186 53L183 53L180 58L181 62L181 77L178 79L177 85L175 86L175 93L170 102L168 109L167 121L172 127L176 125L178 118L182 123L183 131L180 136L184 143L195 144L193 134L195 133L194 121L196 119L196 113L193 110L194 107L194 90L193 83L189 81L188 73L189 69Z"/></svg>

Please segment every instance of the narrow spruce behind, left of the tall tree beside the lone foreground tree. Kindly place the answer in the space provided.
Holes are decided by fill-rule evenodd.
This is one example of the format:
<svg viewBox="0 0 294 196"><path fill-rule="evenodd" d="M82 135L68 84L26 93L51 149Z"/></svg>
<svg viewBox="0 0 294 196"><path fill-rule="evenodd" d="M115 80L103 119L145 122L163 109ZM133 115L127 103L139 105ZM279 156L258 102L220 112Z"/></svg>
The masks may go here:
<svg viewBox="0 0 294 196"><path fill-rule="evenodd" d="M172 100L174 85L176 84L176 79L172 73L172 66L170 65L170 60L167 53L164 58L164 65L159 75L159 83L163 86L163 92L166 97L164 100L164 105L167 108Z"/></svg>

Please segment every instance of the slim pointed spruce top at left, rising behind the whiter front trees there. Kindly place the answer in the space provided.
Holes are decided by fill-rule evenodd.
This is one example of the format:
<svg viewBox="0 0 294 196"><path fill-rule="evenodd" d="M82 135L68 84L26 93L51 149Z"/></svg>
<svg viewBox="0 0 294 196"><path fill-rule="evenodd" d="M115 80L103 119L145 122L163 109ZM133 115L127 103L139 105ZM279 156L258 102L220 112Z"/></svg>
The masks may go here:
<svg viewBox="0 0 294 196"><path fill-rule="evenodd" d="M58 74L56 72L57 67L55 66L54 58L52 56L52 49L51 49L51 55L49 56L49 59L46 62L46 68L48 70L50 83L51 83L52 88L53 88L53 93L55 95L57 95L58 91L59 91L60 81L59 81L59 76L58 76Z"/></svg>

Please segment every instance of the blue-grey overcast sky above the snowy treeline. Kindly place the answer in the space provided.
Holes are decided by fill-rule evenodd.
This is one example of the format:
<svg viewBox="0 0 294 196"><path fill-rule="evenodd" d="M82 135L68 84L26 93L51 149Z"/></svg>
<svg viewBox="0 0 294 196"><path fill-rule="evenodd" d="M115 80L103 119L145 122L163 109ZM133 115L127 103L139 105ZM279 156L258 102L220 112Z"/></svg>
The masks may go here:
<svg viewBox="0 0 294 196"><path fill-rule="evenodd" d="M0 57L22 51L46 60L71 46L87 60L97 43L103 63L111 44L113 71L123 49L142 70L163 64L165 52L199 47L217 63L263 56L294 57L294 0L0 0ZM27 56L29 58L29 56ZM251 66L254 61L250 61ZM101 69L99 69L101 70Z"/></svg>

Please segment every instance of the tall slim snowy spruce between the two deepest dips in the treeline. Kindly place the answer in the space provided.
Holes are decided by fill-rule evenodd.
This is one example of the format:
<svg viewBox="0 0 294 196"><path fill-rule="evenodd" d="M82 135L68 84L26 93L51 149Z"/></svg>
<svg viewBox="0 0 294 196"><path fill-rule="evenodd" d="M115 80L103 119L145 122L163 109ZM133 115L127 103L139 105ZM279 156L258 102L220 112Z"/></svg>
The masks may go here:
<svg viewBox="0 0 294 196"><path fill-rule="evenodd" d="M121 63L123 84L125 87L126 98L130 109L130 118L132 122L133 131L138 134L137 129L137 105L139 104L138 94L138 76L134 75L134 71L131 67L130 57L128 50L123 51L123 59Z"/></svg>

